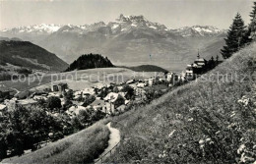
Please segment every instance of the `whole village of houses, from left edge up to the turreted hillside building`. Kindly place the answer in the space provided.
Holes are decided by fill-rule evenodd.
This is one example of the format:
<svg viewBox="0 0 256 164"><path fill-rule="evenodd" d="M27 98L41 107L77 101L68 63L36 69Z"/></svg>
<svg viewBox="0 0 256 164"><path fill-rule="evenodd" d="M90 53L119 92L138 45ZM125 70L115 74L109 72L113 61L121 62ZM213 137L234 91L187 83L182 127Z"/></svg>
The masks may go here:
<svg viewBox="0 0 256 164"><path fill-rule="evenodd" d="M202 73L202 71L205 69L206 64L207 61L203 58L200 58L200 55L198 54L197 59L194 61L194 63L187 65L185 72L182 72L181 74L159 74L147 80L129 80L122 83L110 83L105 85L101 84L93 87L87 87L83 90L73 91L73 105L66 112L71 117L77 115L80 110L88 110L89 108L100 110L105 114L122 112L131 101L131 97L127 96L127 92L122 91L125 84L128 84L134 89L135 100L144 100L147 98L147 88L154 87L155 85L159 85L162 83L164 83L163 85L166 86L173 86L177 82L192 81L195 79L195 75ZM113 90L113 87L115 87L115 90ZM100 92L103 89L106 90L105 97L100 96ZM51 88L39 92L32 92L30 90L26 90L20 92L19 94L15 94L12 99L5 99L3 103L1 103L0 101L0 113L8 106L14 106L16 104L28 106L36 104L37 101L40 99L46 100L50 96L59 97L61 100L61 104L63 105L65 103L63 95L67 91L69 91L67 83L52 84ZM10 90L0 91L0 98L13 94L14 93ZM95 101L86 107L83 106L84 102L80 102L79 98L87 98L90 95L96 97Z"/></svg>

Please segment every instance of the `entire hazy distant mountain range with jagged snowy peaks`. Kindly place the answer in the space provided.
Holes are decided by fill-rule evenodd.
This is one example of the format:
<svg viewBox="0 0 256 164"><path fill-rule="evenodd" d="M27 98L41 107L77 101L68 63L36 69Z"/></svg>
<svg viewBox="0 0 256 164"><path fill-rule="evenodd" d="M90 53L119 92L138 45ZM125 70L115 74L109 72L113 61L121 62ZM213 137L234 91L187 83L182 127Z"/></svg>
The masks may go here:
<svg viewBox="0 0 256 164"><path fill-rule="evenodd" d="M171 19L171 18L170 18ZM180 70L198 50L209 59L220 53L226 30L211 26L168 28L144 16L120 15L107 24L34 25L0 31L1 36L32 41L71 63L81 54L99 53L115 65L154 64Z"/></svg>

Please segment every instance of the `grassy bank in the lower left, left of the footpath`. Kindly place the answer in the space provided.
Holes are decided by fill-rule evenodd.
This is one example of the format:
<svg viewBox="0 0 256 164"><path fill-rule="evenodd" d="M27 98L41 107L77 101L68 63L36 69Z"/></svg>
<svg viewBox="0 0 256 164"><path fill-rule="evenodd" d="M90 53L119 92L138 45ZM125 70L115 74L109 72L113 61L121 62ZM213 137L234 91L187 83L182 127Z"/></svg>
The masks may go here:
<svg viewBox="0 0 256 164"><path fill-rule="evenodd" d="M108 128L99 122L32 153L5 159L3 163L92 163L107 147L109 133Z"/></svg>

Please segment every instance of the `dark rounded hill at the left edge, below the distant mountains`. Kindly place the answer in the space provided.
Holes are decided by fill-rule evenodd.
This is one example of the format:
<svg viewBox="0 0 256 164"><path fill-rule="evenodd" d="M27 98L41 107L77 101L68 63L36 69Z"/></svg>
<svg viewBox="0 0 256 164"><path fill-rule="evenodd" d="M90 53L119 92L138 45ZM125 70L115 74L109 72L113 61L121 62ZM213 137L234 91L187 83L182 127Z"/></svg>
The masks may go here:
<svg viewBox="0 0 256 164"><path fill-rule="evenodd" d="M28 69L59 72L68 64L29 41L0 40L0 65L11 64Z"/></svg>

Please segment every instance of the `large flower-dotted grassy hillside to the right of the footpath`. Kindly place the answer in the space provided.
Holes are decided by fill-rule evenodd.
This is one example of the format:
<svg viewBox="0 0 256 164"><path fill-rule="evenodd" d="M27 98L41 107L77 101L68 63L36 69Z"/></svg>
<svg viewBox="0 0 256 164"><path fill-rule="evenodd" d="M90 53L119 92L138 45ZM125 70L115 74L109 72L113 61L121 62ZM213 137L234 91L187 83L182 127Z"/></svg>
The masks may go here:
<svg viewBox="0 0 256 164"><path fill-rule="evenodd" d="M254 155L255 160L252 147L256 144L256 85L255 78L250 78L255 76L253 64L256 43L197 82L180 86L145 107L115 118L123 142L107 161L237 163L241 144L251 153L244 155ZM221 74L228 74L229 82ZM235 74L237 80L230 82L230 76ZM209 77L211 81L207 82ZM242 96L250 99L247 105L238 103Z"/></svg>

